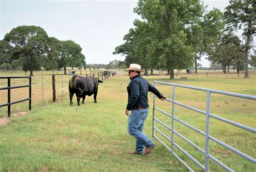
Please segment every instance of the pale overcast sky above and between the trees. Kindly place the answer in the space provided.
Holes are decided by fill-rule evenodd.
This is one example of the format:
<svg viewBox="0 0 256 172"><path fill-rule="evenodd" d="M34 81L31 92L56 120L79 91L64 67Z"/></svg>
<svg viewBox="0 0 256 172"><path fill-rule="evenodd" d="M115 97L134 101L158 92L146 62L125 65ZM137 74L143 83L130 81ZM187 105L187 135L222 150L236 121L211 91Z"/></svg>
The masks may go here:
<svg viewBox="0 0 256 172"><path fill-rule="evenodd" d="M0 39L12 28L35 25L44 28L49 37L75 41L83 48L87 64L124 60L112 52L124 43L134 19L140 18L133 13L137 2L0 0ZM204 4L208 10L215 7L223 11L228 0L205 0ZM204 58L200 63L204 67L209 64Z"/></svg>

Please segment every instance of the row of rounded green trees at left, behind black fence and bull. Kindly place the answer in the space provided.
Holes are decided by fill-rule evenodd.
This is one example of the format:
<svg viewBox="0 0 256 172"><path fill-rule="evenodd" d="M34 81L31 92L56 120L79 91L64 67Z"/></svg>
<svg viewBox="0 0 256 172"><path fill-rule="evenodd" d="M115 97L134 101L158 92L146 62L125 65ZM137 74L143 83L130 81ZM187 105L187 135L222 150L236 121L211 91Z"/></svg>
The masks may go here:
<svg viewBox="0 0 256 172"><path fill-rule="evenodd" d="M82 48L72 40L61 41L39 26L18 26L0 40L0 68L60 70L66 67L86 67Z"/></svg>

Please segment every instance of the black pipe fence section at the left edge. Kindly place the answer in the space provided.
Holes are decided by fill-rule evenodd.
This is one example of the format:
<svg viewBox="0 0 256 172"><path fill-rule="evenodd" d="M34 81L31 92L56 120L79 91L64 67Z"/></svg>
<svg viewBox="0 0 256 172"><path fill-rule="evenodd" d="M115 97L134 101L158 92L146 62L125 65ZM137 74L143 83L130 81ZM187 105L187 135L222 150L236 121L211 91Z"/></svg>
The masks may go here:
<svg viewBox="0 0 256 172"><path fill-rule="evenodd" d="M11 87L11 79L12 78L29 78L28 85L18 85ZM0 90L8 90L8 103L0 104L0 107L8 106L8 118L11 116L11 105L16 103L21 103L24 101L29 101L29 110L31 110L31 76L0 76L0 79L8 80L8 87L2 87ZM19 101L11 102L11 89L29 87L29 98L25 98Z"/></svg>

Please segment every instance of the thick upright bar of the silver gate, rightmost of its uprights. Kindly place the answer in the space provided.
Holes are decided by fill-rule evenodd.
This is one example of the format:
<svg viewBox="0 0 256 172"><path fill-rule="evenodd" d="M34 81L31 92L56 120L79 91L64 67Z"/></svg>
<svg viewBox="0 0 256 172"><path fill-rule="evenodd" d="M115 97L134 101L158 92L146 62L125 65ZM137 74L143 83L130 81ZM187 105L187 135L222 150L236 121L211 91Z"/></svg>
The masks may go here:
<svg viewBox="0 0 256 172"><path fill-rule="evenodd" d="M209 171L209 128L210 128L211 92L207 91L206 121L205 121L205 171Z"/></svg>

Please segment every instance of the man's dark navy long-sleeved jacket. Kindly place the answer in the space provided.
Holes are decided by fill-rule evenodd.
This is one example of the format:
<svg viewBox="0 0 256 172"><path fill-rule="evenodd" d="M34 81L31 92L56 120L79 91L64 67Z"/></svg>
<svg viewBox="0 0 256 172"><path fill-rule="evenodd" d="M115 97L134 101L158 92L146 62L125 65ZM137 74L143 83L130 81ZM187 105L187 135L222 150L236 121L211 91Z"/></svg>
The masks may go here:
<svg viewBox="0 0 256 172"><path fill-rule="evenodd" d="M127 87L128 92L128 104L127 110L132 110L133 107L148 107L147 92L153 92L158 98L162 98L163 95L153 87L147 80L140 75L136 75L132 78L130 84Z"/></svg>

